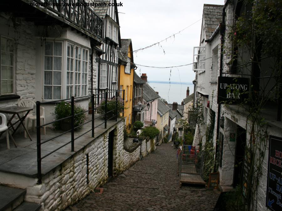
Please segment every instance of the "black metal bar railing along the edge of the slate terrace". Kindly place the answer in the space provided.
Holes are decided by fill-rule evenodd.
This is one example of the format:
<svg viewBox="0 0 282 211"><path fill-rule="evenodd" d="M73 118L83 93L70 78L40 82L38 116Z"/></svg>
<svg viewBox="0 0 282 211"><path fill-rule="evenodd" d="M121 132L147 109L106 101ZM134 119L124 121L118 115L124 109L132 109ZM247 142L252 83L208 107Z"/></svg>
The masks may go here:
<svg viewBox="0 0 282 211"><path fill-rule="evenodd" d="M94 138L94 129L101 126L102 124L104 124L104 127L107 128L107 120L111 120L111 119L115 119L115 121L118 121L118 92L119 91L124 91L124 90L116 90L116 91L112 91L112 92L105 92L105 93L100 93L100 94L92 94L92 95L87 95L87 96L81 96L81 97L71 97L71 98L67 98L67 99L62 99L62 100L54 100L54 101L48 101L48 102L39 102L37 101L36 102L36 135L37 135L37 176L38 176L38 182L39 183L42 183L42 168L41 168L41 161L42 159L46 158L47 156L49 156L50 154L56 152L57 150L59 150L60 148L63 148L65 147L66 145L70 144L71 143L71 151L74 152L74 141L78 138L80 138L81 136L85 135L86 133L89 133L91 131L91 136ZM115 93L115 100L112 101L112 102L108 102L108 93ZM104 103L102 103L102 100L101 102L98 102L98 103L95 103L95 98L97 98L97 95L103 95L103 98L104 98ZM91 109L88 109L88 110L85 110L81 113L76 113L74 112L75 110L75 100L76 99L80 99L80 98L91 98L91 106L92 108ZM102 96L100 96L100 99L102 98ZM50 104L50 103L60 103L62 101L70 101L70 104L71 104L71 115L68 116L68 117L64 117L64 118L61 118L61 119L57 119L57 120L54 120L52 122L49 122L49 123L45 123L45 124L42 124L40 125L40 106L41 105L44 105L44 104ZM108 110L108 105L109 104L112 104L112 103L115 103L115 107L112 109L112 110ZM99 108L102 108L102 114L101 115L98 115L97 117L94 117L94 114L95 112L97 112L97 110ZM92 116L91 116L91 120L88 120L78 126L75 126L75 117L77 115L80 115L82 113L88 113L89 111L92 111ZM111 115L110 117L108 117L108 113L110 112L114 112L114 115ZM113 114L113 113L111 113ZM94 125L94 121L95 119L97 118L101 118L103 117L103 122L98 124L98 125ZM71 124L71 129L67 130L67 131L64 131L62 133L60 133L59 135L56 135L54 137L51 137L51 138L48 138L47 140L44 140L44 141L41 141L41 132L40 132L40 128L43 127L43 126L47 126L47 125L50 125L50 124L54 124L56 122L59 122L59 121L62 121L62 120L65 120L65 119L68 119L70 118L70 124ZM79 128L87 123L90 123L91 122L91 129L90 130L87 130L86 132L80 134L79 136L77 136L76 138L74 137L74 130L76 128ZM56 138L59 138L60 136L66 134L66 133L69 133L71 132L71 140L65 144L63 144L62 146L56 148L55 150L53 150L52 152L50 153L47 153L46 155L42 156L41 155L41 145L46 143L46 142L49 142L49 141L52 141Z"/></svg>

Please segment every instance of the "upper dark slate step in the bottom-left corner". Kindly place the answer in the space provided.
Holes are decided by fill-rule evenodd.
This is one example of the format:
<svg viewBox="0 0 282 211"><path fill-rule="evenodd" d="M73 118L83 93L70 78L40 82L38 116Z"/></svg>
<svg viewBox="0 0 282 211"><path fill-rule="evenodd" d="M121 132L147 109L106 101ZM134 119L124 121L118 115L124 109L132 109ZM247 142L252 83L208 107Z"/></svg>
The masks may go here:
<svg viewBox="0 0 282 211"><path fill-rule="evenodd" d="M10 211L24 201L26 190L0 185L0 211Z"/></svg>

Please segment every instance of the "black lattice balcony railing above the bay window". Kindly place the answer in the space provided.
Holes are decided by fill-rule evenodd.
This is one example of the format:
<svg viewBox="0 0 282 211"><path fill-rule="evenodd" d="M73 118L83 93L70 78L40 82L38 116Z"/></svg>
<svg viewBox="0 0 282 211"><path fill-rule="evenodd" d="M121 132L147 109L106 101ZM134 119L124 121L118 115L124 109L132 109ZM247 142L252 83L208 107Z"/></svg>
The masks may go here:
<svg viewBox="0 0 282 211"><path fill-rule="evenodd" d="M91 35L102 38L103 20L82 0L34 0L44 7ZM52 5L52 6L49 6ZM54 6L53 6L54 5Z"/></svg>

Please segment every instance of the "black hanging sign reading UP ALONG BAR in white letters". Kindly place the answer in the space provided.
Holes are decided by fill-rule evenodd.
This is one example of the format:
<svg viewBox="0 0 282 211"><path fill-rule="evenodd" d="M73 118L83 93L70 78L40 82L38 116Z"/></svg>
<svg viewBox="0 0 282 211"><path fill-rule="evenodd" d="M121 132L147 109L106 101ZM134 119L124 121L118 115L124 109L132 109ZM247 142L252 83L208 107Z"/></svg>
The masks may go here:
<svg viewBox="0 0 282 211"><path fill-rule="evenodd" d="M240 104L248 98L249 79L218 77L217 103ZM228 91L229 90L229 91Z"/></svg>

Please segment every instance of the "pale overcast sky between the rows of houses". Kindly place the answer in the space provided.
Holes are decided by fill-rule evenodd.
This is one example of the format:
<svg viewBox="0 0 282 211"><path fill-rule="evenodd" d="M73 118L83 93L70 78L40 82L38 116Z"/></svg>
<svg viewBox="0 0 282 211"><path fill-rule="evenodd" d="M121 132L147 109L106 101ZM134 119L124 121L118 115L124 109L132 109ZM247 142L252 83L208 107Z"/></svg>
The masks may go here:
<svg viewBox="0 0 282 211"><path fill-rule="evenodd" d="M117 1L118 2L118 1ZM157 43L200 20L205 4L224 4L224 0L122 0L118 7L122 39L131 38L133 51ZM125 14L123 14L125 13ZM175 38L133 54L134 63L154 67L169 67L193 62L193 47L199 46L201 20ZM138 66L136 72L147 73L148 80L192 82L192 65L158 69Z"/></svg>

